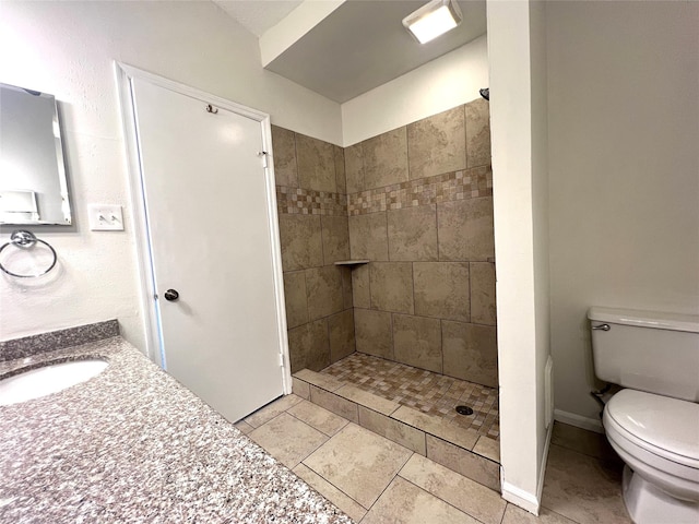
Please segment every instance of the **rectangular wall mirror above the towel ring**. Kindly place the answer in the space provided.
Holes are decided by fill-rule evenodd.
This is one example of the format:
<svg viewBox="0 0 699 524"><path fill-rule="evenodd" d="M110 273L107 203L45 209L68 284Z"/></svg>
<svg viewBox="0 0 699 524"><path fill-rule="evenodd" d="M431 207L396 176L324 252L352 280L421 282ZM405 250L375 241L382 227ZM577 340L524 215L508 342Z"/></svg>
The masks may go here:
<svg viewBox="0 0 699 524"><path fill-rule="evenodd" d="M71 224L56 98L8 84L0 84L0 224Z"/></svg>

